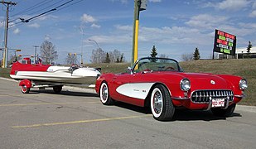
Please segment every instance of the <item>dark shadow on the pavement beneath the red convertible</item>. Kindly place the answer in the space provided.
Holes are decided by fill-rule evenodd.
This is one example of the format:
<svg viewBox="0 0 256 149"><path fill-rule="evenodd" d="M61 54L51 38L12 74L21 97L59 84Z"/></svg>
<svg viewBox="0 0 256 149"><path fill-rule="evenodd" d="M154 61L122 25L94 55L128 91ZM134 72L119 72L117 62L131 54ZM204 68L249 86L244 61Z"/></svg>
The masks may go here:
<svg viewBox="0 0 256 149"><path fill-rule="evenodd" d="M151 114L150 108L142 108L134 106L128 103L115 102L113 106L119 108L126 108L129 110L136 111L138 113ZM240 113L233 113L230 117L242 117ZM229 118L230 118L229 117ZM215 120L225 120L225 117L217 117L211 111L205 110L189 110L185 108L176 108L176 111L173 115L173 118L170 122L173 121L215 121Z"/></svg>

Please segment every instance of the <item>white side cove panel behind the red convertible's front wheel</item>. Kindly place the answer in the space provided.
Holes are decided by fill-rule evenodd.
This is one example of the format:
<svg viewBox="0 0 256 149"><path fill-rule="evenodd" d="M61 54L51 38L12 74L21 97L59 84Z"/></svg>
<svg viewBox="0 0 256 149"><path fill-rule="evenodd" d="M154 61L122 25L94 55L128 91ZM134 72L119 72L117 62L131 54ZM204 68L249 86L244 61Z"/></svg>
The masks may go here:
<svg viewBox="0 0 256 149"><path fill-rule="evenodd" d="M146 99L153 84L154 83L122 84L118 86L116 91L118 94L123 94L131 98Z"/></svg>

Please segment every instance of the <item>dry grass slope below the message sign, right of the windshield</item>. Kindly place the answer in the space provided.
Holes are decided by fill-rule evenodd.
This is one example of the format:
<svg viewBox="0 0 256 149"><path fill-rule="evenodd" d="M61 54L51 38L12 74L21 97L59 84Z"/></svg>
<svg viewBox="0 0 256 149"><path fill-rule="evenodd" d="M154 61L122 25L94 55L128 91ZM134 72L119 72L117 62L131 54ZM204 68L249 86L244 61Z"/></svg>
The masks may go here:
<svg viewBox="0 0 256 149"><path fill-rule="evenodd" d="M207 72L212 74L234 74L247 79L249 88L240 104L256 106L256 59L196 60L181 62L185 72Z"/></svg>

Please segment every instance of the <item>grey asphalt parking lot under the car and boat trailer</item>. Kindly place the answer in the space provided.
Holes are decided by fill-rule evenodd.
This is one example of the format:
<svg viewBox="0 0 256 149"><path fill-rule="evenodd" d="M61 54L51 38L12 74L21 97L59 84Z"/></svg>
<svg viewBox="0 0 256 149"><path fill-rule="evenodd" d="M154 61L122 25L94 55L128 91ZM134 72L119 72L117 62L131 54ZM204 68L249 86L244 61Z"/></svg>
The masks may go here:
<svg viewBox="0 0 256 149"><path fill-rule="evenodd" d="M230 118L179 109L159 122L145 108L104 106L90 89L22 94L0 79L0 148L255 148L255 115L249 106Z"/></svg>

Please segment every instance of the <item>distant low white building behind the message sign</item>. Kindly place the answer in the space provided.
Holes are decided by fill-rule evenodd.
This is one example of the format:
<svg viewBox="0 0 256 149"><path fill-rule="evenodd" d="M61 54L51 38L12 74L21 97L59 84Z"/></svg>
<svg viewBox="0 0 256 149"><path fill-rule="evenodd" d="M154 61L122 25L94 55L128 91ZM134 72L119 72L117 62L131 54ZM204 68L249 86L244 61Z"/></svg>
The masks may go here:
<svg viewBox="0 0 256 149"><path fill-rule="evenodd" d="M252 47L249 52L250 58L256 58L256 47ZM235 55L218 54L219 59L245 59L248 58L247 47L238 48L235 50Z"/></svg>

